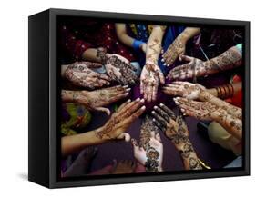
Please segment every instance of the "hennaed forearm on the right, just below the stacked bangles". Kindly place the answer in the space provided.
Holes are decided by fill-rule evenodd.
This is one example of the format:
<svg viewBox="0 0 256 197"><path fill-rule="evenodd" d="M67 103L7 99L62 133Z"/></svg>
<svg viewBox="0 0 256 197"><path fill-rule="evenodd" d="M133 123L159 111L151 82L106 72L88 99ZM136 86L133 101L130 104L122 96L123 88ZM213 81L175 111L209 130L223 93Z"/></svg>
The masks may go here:
<svg viewBox="0 0 256 197"><path fill-rule="evenodd" d="M227 103L227 102L217 98L216 96L208 93L207 91L201 91L200 101L212 103L212 104L224 109L227 113L230 113L230 115L233 115L234 117L236 117L240 120L242 118L241 108L236 107L230 103Z"/></svg>

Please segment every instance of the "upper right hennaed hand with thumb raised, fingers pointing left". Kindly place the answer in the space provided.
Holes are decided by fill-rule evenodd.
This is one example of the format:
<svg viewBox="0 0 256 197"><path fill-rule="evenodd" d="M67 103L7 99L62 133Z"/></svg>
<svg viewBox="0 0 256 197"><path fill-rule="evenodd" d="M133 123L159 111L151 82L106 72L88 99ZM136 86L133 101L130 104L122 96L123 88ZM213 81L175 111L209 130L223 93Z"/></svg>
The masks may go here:
<svg viewBox="0 0 256 197"><path fill-rule="evenodd" d="M170 70L167 76L170 80L185 80L196 76L202 76L206 73L204 62L200 59L182 55L181 60L189 63L179 65Z"/></svg>

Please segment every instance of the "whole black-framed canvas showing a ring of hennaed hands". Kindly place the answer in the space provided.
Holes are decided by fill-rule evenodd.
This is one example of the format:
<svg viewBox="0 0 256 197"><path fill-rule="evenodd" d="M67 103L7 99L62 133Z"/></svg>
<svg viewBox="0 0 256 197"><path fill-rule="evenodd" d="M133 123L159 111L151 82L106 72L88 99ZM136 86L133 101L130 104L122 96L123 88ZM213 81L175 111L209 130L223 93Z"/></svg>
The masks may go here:
<svg viewBox="0 0 256 197"><path fill-rule="evenodd" d="M250 22L64 9L28 22L29 181L250 174Z"/></svg>

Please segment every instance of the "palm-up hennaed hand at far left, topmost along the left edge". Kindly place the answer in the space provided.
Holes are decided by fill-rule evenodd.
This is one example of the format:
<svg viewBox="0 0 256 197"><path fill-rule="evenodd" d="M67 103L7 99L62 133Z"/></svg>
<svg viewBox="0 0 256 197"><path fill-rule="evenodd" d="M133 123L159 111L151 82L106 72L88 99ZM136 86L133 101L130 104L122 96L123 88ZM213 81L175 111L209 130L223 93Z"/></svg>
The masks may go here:
<svg viewBox="0 0 256 197"><path fill-rule="evenodd" d="M106 74L98 74L92 68L101 67L102 64L90 62L76 62L62 65L62 74L68 81L77 86L95 89L109 85L111 79Z"/></svg>

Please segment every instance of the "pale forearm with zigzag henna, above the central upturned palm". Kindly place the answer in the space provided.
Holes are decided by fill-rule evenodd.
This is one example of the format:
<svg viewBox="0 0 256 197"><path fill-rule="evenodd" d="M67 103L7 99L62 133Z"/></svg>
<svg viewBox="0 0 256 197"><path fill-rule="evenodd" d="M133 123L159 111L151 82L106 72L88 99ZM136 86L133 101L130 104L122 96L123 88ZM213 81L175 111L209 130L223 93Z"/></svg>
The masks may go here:
<svg viewBox="0 0 256 197"><path fill-rule="evenodd" d="M148 38L146 64L158 64L165 26L155 26Z"/></svg>

